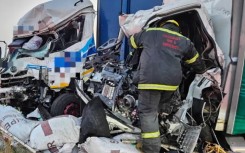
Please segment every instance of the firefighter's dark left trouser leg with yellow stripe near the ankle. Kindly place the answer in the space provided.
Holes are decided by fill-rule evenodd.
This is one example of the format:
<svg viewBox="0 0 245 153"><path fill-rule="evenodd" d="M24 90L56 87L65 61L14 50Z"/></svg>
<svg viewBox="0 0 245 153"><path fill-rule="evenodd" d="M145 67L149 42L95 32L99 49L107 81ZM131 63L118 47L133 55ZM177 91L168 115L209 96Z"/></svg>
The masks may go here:
<svg viewBox="0 0 245 153"><path fill-rule="evenodd" d="M160 91L139 91L139 117L143 138L144 153L160 152L160 133L158 125L158 104L161 98Z"/></svg>

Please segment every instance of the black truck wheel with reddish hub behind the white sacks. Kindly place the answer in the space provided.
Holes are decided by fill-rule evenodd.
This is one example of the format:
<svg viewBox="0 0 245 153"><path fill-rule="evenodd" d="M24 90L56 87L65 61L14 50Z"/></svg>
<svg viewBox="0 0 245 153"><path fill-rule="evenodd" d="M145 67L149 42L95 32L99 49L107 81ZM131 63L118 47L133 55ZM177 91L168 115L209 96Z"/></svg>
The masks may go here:
<svg viewBox="0 0 245 153"><path fill-rule="evenodd" d="M64 93L54 100L50 113L52 116L73 115L79 117L85 105L75 94Z"/></svg>

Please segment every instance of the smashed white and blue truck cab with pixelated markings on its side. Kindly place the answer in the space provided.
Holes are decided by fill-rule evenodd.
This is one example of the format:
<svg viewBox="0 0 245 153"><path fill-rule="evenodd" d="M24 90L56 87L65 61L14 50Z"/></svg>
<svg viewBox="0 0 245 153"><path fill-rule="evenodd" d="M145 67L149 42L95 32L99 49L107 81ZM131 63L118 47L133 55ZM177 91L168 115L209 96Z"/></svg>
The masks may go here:
<svg viewBox="0 0 245 153"><path fill-rule="evenodd" d="M94 17L89 0L53 0L25 14L8 45L0 102L23 112L42 104L54 116L79 116L85 103L70 84L73 78L83 78L85 58L96 51Z"/></svg>

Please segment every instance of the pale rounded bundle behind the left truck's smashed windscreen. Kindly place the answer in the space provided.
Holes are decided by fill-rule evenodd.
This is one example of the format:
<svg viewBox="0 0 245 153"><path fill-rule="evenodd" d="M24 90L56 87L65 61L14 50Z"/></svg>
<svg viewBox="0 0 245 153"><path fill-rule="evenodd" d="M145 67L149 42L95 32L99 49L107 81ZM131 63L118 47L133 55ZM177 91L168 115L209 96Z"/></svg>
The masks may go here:
<svg viewBox="0 0 245 153"><path fill-rule="evenodd" d="M38 49L43 42L43 39L39 36L33 36L28 42L26 42L22 48L26 50L36 50Z"/></svg>

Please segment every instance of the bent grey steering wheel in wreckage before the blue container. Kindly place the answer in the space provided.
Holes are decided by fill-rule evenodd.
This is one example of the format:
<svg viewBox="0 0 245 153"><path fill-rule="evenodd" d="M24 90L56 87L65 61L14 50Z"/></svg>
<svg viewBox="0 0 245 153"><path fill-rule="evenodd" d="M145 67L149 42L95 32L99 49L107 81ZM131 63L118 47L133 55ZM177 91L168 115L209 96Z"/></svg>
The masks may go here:
<svg viewBox="0 0 245 153"><path fill-rule="evenodd" d="M108 52L111 50L116 50L116 47L120 45L122 42L117 40L117 38L109 39L107 42L105 42L103 45L97 48L97 51L99 52Z"/></svg>

